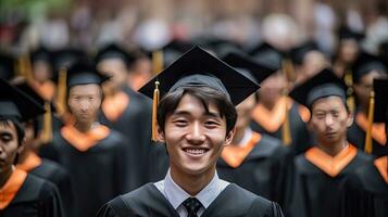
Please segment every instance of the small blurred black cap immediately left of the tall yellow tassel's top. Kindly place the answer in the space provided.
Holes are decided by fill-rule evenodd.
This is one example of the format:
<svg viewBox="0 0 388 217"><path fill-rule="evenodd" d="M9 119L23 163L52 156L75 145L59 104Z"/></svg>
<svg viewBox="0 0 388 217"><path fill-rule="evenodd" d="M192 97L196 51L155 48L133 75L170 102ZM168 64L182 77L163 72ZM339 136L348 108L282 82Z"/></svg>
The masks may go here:
<svg viewBox="0 0 388 217"><path fill-rule="evenodd" d="M284 52L266 42L248 51L248 53L253 56L254 60L265 63L267 67L276 69L281 68L281 62L285 56Z"/></svg>

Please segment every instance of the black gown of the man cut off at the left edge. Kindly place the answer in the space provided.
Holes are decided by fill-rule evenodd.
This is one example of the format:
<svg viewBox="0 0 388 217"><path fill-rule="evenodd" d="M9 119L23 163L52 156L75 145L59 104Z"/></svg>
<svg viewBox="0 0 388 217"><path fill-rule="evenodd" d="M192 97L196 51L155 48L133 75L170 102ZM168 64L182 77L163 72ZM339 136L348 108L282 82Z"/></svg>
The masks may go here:
<svg viewBox="0 0 388 217"><path fill-rule="evenodd" d="M63 208L57 187L28 174L12 202L1 217L61 217Z"/></svg>

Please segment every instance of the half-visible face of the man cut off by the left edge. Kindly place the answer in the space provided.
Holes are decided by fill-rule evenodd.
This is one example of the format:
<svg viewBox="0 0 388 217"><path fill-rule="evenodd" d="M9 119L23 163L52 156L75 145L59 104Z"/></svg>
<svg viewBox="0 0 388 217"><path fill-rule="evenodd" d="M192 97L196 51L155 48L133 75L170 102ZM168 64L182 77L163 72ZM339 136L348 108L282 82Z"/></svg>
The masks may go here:
<svg viewBox="0 0 388 217"><path fill-rule="evenodd" d="M13 165L16 154L22 152L17 145L16 128L11 122L0 122L0 174Z"/></svg>

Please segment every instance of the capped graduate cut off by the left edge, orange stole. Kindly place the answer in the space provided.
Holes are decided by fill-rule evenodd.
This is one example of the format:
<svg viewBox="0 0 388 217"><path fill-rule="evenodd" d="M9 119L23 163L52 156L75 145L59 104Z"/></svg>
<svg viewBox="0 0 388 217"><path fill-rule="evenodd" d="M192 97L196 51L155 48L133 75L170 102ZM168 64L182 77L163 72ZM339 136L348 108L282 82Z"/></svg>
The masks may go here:
<svg viewBox="0 0 388 217"><path fill-rule="evenodd" d="M1 78L0 107L0 216L63 216L57 187L14 166L24 149L23 122L43 108Z"/></svg>

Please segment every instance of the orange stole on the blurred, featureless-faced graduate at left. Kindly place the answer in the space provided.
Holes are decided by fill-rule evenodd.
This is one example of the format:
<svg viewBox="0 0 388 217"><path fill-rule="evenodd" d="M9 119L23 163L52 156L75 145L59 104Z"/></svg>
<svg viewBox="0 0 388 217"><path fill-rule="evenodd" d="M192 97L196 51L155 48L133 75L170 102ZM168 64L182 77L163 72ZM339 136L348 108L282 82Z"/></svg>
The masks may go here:
<svg viewBox="0 0 388 217"><path fill-rule="evenodd" d="M107 138L109 132L109 128L103 125L100 125L86 133L78 131L71 125L62 127L61 129L62 137L80 152L85 152L96 145L100 140Z"/></svg>

